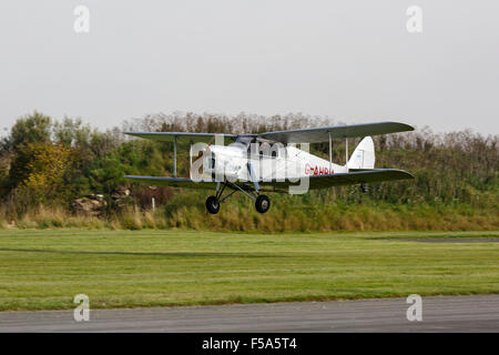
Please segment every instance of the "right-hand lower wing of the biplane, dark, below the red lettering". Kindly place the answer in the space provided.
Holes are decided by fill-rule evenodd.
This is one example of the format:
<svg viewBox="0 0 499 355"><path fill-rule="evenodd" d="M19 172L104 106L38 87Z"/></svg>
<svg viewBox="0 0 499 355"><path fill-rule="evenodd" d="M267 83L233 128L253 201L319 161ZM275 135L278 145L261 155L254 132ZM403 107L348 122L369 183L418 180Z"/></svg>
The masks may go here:
<svg viewBox="0 0 499 355"><path fill-rule="evenodd" d="M393 181L393 180L404 180L404 179L414 179L414 175L396 169L374 169L374 170L363 170L363 171L353 171L349 173L338 173L330 175L312 175L309 178L310 190L316 189L326 189L332 186L339 185L355 185L361 183L374 183L381 181ZM289 181L283 182L261 182L259 185L264 187L274 187L274 190L283 190L291 185L298 185L299 183L291 183Z"/></svg>

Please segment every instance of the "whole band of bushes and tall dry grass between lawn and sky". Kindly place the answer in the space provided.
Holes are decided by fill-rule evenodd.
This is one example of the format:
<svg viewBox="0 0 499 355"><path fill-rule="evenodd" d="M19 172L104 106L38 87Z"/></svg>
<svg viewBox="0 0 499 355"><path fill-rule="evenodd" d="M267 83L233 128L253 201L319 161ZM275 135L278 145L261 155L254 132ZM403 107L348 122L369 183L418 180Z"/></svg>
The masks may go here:
<svg viewBox="0 0 499 355"><path fill-rule="evenodd" d="M289 114L264 118L240 114L151 115L123 129L244 133L332 124L320 118ZM230 199L218 215L204 211L207 191L130 185L125 174L172 174L172 146L100 132L81 120L54 121L34 112L19 119L0 143L0 229L195 229L230 231L493 230L498 229L498 136L471 131L435 134L429 129L375 136L376 166L398 168L415 181L275 195L261 215L244 196ZM358 143L358 140L356 142ZM350 143L350 148L355 144ZM313 153L327 159L328 144ZM177 174L189 174L189 145L179 148ZM333 159L343 163L345 144L335 142ZM131 189L116 203L113 192ZM71 202L103 194L100 217L78 215ZM151 199L156 210L151 211Z"/></svg>

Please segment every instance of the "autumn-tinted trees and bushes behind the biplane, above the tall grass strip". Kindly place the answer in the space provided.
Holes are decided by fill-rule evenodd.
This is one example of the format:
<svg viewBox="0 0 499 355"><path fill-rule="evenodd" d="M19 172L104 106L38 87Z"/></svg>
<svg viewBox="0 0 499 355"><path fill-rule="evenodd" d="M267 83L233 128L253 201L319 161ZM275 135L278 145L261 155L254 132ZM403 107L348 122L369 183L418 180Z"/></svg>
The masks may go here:
<svg viewBox="0 0 499 355"><path fill-rule="evenodd" d="M108 200L103 219L121 213L123 205L146 211L151 197L164 219L171 217L180 207L179 190L153 190L123 179L125 174L171 175L171 143L130 139L122 134L124 130L237 134L334 124L340 122L303 114L268 118L245 113L161 113L101 131L83 124L81 119L54 120L33 112L18 119L0 141L0 219L19 220L39 206L63 207L68 214L74 214L71 202L89 194L102 194ZM357 186L315 191L294 197L289 209L312 209L319 202L394 207L461 205L497 212L498 139L470 130L437 134L429 128L375 136L376 168L407 170L415 174L415 181L375 184L366 194ZM350 153L358 141L350 141ZM344 163L344 142L335 141L333 148L333 160ZM328 156L328 143L312 144L310 149L312 153ZM179 146L179 153L177 175L187 176L189 144ZM122 187L132 193L124 204L118 205L111 195ZM186 195L197 196L200 192L182 194L189 200ZM193 209L203 213L197 204Z"/></svg>

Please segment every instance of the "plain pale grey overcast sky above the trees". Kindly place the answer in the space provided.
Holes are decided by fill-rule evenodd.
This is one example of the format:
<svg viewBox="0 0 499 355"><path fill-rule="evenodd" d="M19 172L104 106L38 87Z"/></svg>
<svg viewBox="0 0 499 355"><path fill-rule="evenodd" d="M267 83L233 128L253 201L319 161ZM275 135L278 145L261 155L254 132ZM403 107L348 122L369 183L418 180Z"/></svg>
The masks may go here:
<svg viewBox="0 0 499 355"><path fill-rule="evenodd" d="M74 9L90 32L74 31ZM406 10L422 10L409 33ZM498 134L497 0L2 0L0 131L174 111Z"/></svg>

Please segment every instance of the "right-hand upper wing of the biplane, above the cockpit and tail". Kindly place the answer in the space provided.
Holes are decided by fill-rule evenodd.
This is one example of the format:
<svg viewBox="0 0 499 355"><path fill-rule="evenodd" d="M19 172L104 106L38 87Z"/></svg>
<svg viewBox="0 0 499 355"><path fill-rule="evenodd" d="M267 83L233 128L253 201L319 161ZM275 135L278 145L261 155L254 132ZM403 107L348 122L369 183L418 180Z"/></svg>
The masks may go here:
<svg viewBox="0 0 499 355"><path fill-rule="evenodd" d="M399 122L379 122L354 125L322 126L317 129L274 131L258 136L282 143L320 143L330 138L353 138L414 131L411 125Z"/></svg>

